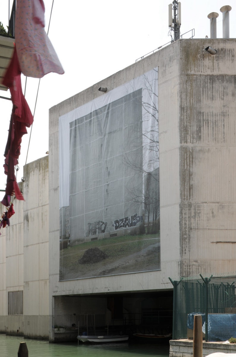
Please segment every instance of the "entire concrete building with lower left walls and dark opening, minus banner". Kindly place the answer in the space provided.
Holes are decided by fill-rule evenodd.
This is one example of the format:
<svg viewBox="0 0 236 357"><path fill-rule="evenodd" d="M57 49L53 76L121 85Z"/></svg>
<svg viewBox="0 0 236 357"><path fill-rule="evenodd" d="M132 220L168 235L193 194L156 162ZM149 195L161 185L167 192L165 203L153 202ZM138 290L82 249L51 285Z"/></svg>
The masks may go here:
<svg viewBox="0 0 236 357"><path fill-rule="evenodd" d="M47 158L27 165L25 202L16 203L11 226L0 237L2 332L7 326L8 333L19 333L20 327L20 333L29 337L65 341L76 338L78 331L72 325L78 322L90 330L107 322L123 326L124 321L134 328L151 325L160 312L169 319L166 327L171 326L169 276L236 271L236 248L231 243L236 230L235 44L235 39L175 41L50 109L48 171ZM209 45L217 49L216 55L205 51ZM107 94L99 87L107 87L109 93L157 67L160 267L63 279L60 255L63 260L72 248L60 251L59 244L58 118L101 96L105 101ZM70 201L63 218L65 227L70 226L71 241L77 229L76 220L72 225L70 218L73 209ZM109 236L113 239L111 231ZM71 269L76 264L71 261ZM7 314L9 291L24 291L23 315ZM65 326L70 329L65 331Z"/></svg>

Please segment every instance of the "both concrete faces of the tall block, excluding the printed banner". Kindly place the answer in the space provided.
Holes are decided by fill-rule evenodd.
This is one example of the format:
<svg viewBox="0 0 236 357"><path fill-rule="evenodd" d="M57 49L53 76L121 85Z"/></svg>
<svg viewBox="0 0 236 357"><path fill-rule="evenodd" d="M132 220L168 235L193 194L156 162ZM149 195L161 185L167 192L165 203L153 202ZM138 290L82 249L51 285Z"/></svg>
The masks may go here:
<svg viewBox="0 0 236 357"><path fill-rule="evenodd" d="M235 42L176 41L50 109L50 326L53 296L160 290L168 276L236 270L234 244L212 243L235 240ZM156 66L161 271L59 282L58 117Z"/></svg>

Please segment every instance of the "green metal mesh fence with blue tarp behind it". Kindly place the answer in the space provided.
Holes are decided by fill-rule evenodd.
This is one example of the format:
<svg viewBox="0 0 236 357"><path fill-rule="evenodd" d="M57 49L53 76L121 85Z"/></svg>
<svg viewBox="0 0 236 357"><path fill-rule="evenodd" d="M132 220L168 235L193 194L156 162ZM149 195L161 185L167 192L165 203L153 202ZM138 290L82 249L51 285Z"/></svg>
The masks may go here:
<svg viewBox="0 0 236 357"><path fill-rule="evenodd" d="M193 338L194 315L202 315L205 341L236 338L236 275L169 279L174 286L173 339Z"/></svg>

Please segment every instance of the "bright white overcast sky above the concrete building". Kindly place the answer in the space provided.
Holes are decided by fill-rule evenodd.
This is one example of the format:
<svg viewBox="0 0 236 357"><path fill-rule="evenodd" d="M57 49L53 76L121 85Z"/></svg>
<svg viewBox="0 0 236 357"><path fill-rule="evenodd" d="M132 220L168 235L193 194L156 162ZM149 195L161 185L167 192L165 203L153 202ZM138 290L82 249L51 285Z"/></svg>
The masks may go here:
<svg viewBox="0 0 236 357"><path fill-rule="evenodd" d="M55 104L75 95L98 81L133 64L136 59L170 41L168 37L168 5L170 0L54 0L48 37L61 61L65 74L47 74L40 81L39 96L32 127L27 163L45 156L48 150L48 110ZM47 31L52 0L45 3ZM195 28L195 38L210 37L207 15L218 12L217 37L222 37L220 8L231 5L230 37L236 37L233 19L234 1L182 0L180 33ZM12 0L10 0L10 9ZM8 0L0 1L0 21L8 25ZM186 35L187 36L187 35ZM183 38L188 38L183 36ZM210 40L209 40L210 41ZM210 42L209 42L210 44ZM25 76L21 77L24 91ZM34 112L39 79L28 78L26 100ZM0 91L10 97L9 90ZM12 103L0 99L0 189L5 189L4 151ZM24 135L19 158L17 181L23 176L30 137ZM0 192L0 200L4 196Z"/></svg>

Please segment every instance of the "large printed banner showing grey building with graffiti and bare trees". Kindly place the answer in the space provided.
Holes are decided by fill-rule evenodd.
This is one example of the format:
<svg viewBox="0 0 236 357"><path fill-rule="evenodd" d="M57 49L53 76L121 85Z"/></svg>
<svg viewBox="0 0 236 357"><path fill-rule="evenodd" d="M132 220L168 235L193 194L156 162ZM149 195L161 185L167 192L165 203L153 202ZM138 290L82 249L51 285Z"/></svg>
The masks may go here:
<svg viewBox="0 0 236 357"><path fill-rule="evenodd" d="M60 280L159 270L158 68L61 116L59 149Z"/></svg>

